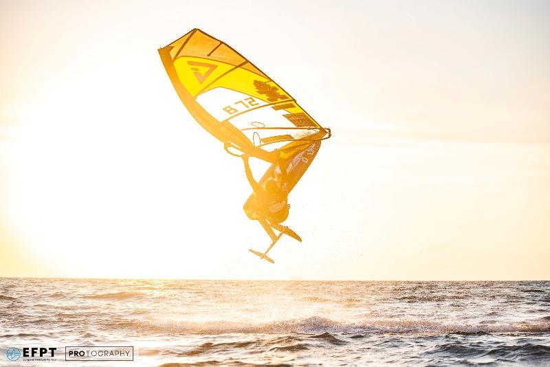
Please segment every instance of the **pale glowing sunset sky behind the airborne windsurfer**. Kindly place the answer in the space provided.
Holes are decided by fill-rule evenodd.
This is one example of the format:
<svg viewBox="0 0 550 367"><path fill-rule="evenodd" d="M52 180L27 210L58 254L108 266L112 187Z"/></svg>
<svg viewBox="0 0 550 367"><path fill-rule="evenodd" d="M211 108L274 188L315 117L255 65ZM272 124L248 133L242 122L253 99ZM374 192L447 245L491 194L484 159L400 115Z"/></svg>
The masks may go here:
<svg viewBox="0 0 550 367"><path fill-rule="evenodd" d="M548 1L1 1L0 276L550 279ZM333 137L270 241L157 53L198 27ZM260 175L260 174L259 174Z"/></svg>

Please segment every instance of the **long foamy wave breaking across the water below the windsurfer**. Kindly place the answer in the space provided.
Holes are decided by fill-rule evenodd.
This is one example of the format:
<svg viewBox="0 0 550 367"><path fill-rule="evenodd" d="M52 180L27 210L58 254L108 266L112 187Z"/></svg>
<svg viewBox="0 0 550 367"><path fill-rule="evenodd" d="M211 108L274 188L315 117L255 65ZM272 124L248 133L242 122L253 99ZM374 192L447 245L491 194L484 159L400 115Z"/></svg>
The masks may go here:
<svg viewBox="0 0 550 367"><path fill-rule="evenodd" d="M362 322L340 322L328 318L311 316L309 318L278 320L265 323L245 323L234 321L186 322L178 320L153 320L138 325L159 333L265 333L265 334L316 334L344 333L362 335L369 333L548 333L550 322L546 318L531 322L494 324L467 324L428 320L379 319ZM327 335L325 335L327 336ZM327 336L328 337L328 336Z"/></svg>

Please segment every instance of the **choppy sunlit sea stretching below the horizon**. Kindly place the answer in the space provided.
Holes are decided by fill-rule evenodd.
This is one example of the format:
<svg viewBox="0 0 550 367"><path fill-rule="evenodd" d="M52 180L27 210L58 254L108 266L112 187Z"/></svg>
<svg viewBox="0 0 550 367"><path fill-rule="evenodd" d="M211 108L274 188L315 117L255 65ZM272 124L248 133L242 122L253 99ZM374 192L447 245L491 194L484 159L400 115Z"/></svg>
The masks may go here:
<svg viewBox="0 0 550 367"><path fill-rule="evenodd" d="M550 282L0 278L0 366L550 366Z"/></svg>

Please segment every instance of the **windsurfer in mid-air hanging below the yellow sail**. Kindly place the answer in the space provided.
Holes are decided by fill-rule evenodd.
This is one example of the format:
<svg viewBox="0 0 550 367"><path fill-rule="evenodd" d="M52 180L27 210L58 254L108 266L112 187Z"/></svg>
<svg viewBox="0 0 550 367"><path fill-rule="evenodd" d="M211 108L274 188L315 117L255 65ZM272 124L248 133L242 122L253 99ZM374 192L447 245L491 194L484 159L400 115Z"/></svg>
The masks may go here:
<svg viewBox="0 0 550 367"><path fill-rule="evenodd" d="M245 203L244 210L252 220L259 221L265 232L276 242L276 236L272 230L278 230L284 234L302 241L298 234L289 227L281 225L288 217L290 205L288 204L288 177L287 166L281 159L278 162L278 169L274 170L274 176L267 179L263 185L256 182L250 170L248 155L241 155L245 165L245 173L254 190L254 194ZM271 247L270 247L271 248Z"/></svg>

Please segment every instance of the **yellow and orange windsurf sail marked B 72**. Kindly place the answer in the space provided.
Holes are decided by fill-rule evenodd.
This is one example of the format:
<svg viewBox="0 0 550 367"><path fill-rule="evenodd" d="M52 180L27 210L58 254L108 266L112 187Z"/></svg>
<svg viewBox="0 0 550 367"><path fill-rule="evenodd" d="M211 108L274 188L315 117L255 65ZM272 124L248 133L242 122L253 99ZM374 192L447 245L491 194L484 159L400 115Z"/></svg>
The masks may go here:
<svg viewBox="0 0 550 367"><path fill-rule="evenodd" d="M159 49L179 98L206 131L275 163L330 137L292 96L232 47L195 29Z"/></svg>

